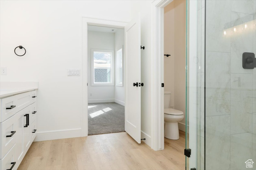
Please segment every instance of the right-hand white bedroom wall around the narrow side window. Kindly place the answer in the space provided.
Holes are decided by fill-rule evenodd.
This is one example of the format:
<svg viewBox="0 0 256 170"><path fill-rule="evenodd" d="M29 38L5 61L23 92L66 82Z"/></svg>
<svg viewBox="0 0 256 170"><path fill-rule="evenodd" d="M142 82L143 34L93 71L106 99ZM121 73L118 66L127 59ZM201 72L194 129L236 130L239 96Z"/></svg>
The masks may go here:
<svg viewBox="0 0 256 170"><path fill-rule="evenodd" d="M124 30L119 29L115 32L115 50L124 48ZM124 51L123 51L124 54ZM125 61L123 59L123 61ZM125 64L123 64L124 66ZM124 97L125 97L124 86L115 86L115 102L122 104L124 106Z"/></svg>

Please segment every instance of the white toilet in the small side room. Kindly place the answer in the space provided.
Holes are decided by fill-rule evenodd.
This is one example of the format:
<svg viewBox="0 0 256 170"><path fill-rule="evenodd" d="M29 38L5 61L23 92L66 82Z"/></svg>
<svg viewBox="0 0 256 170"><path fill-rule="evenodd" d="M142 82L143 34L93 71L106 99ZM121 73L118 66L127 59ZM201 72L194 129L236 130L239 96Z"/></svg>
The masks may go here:
<svg viewBox="0 0 256 170"><path fill-rule="evenodd" d="M179 139L178 122L184 118L184 113L180 110L170 109L171 92L164 92L164 137L168 139Z"/></svg>

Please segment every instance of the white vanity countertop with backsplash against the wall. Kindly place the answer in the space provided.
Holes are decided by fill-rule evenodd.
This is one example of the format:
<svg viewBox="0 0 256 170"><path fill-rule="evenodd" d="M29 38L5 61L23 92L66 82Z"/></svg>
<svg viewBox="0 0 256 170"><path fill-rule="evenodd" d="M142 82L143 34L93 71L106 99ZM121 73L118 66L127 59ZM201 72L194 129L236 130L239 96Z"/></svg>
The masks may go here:
<svg viewBox="0 0 256 170"><path fill-rule="evenodd" d="M0 82L0 98L38 89L38 82Z"/></svg>

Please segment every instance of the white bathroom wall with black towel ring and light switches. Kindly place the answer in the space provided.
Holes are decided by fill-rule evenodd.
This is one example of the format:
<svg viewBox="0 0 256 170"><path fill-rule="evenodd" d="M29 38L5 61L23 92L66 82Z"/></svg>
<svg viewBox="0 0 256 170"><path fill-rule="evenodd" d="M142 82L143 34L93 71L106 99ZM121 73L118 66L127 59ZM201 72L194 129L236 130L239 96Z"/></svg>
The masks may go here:
<svg viewBox="0 0 256 170"><path fill-rule="evenodd" d="M82 16L130 15L130 1L0 1L1 81L39 82L38 140L81 136L82 76L67 69L82 69ZM14 54L19 45L25 56Z"/></svg>

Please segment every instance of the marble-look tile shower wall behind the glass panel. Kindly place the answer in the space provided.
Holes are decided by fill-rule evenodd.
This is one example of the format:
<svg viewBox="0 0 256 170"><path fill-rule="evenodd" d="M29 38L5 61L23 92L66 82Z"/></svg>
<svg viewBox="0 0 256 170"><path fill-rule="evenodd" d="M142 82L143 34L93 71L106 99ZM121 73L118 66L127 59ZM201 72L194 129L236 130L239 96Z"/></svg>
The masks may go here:
<svg viewBox="0 0 256 170"><path fill-rule="evenodd" d="M256 54L255 13L255 0L206 1L206 72L202 64L198 72L200 81L206 77L206 169L250 169L245 164L248 159L255 162L251 169L256 169L256 68L242 68L242 54ZM204 93L199 94L198 140L202 141ZM200 160L204 156L198 155Z"/></svg>

